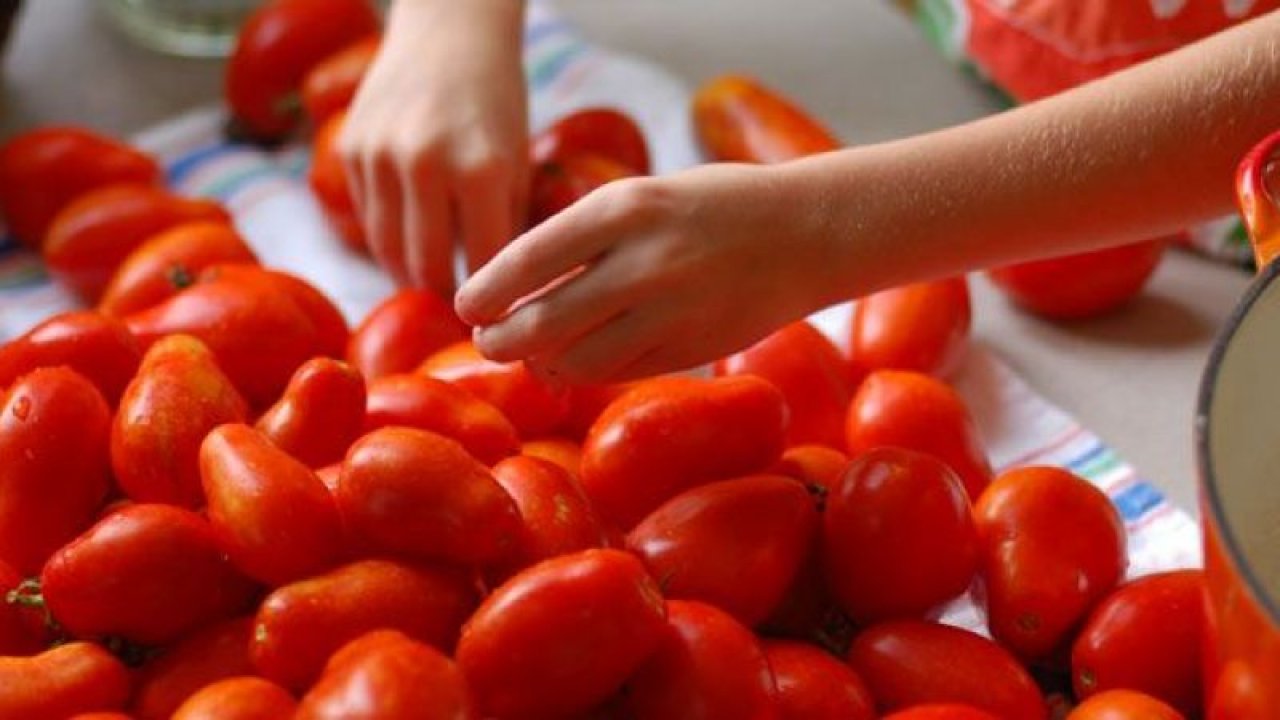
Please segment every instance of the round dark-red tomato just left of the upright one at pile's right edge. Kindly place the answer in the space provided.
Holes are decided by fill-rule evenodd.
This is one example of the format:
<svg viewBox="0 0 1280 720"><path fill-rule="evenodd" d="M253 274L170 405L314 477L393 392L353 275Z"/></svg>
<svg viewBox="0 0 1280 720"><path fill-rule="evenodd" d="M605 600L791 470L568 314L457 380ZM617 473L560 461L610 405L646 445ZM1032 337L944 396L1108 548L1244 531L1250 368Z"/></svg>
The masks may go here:
<svg viewBox="0 0 1280 720"><path fill-rule="evenodd" d="M859 624L918 618L969 589L978 533L942 461L877 447L850 462L822 518L827 582Z"/></svg>

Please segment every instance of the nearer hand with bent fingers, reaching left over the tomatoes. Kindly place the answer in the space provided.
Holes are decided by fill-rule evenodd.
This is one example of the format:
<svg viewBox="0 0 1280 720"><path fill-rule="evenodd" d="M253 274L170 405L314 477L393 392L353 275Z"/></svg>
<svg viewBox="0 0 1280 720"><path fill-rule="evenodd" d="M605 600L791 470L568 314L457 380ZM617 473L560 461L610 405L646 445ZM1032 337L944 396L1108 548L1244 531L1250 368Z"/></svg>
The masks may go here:
<svg viewBox="0 0 1280 720"><path fill-rule="evenodd" d="M817 199L785 170L707 165L609 183L513 241L457 309L494 360L573 382L707 363L828 297Z"/></svg>

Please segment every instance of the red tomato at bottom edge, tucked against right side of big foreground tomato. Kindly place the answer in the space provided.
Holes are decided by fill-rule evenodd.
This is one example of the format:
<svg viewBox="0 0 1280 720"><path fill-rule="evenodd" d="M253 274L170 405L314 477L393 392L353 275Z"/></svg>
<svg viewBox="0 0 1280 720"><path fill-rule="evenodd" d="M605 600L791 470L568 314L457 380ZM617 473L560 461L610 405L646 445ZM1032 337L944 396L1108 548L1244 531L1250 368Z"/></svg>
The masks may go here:
<svg viewBox="0 0 1280 720"><path fill-rule="evenodd" d="M714 606L667 602L658 650L627 682L636 720L780 717L773 671L755 635Z"/></svg>

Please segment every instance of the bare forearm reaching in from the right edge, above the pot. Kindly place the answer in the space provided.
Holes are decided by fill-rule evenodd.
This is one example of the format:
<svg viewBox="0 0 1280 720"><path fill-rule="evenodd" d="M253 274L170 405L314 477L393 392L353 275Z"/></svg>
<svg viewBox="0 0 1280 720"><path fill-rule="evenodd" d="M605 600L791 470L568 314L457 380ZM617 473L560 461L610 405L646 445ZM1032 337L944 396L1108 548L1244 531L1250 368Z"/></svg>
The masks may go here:
<svg viewBox="0 0 1280 720"><path fill-rule="evenodd" d="M1231 209L1280 128L1280 13L966 126L780 168L832 293L1155 237ZM835 300L827 297L824 300Z"/></svg>

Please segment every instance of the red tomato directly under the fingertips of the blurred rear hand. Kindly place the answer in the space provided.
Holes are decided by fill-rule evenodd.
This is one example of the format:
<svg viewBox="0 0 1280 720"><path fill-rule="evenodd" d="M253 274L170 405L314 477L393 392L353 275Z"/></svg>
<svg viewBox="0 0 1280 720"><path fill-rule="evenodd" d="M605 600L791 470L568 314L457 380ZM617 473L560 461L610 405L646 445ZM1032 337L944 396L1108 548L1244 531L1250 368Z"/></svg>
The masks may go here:
<svg viewBox="0 0 1280 720"><path fill-rule="evenodd" d="M408 373L428 356L471 336L453 306L426 288L406 288L383 300L356 327L347 361L370 380Z"/></svg>

